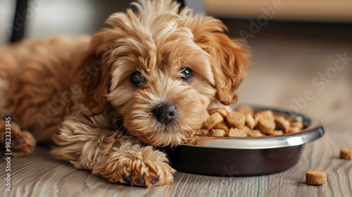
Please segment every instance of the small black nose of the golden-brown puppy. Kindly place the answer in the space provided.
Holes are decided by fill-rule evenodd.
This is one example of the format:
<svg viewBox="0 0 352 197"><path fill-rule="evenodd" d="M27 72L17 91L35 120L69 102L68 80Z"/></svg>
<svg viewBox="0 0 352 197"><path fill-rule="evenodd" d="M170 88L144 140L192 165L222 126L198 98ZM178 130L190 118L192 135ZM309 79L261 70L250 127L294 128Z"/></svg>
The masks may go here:
<svg viewBox="0 0 352 197"><path fill-rule="evenodd" d="M176 108L172 103L165 103L153 109L153 114L159 122L168 124L176 117Z"/></svg>

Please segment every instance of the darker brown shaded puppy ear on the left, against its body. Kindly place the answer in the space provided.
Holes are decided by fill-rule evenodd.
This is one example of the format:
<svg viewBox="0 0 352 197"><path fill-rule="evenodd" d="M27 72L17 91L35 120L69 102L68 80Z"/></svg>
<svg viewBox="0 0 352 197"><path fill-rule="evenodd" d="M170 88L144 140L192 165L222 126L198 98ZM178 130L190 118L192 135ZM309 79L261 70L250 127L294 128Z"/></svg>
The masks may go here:
<svg viewBox="0 0 352 197"><path fill-rule="evenodd" d="M103 46L105 32L92 37L88 51L78 61L76 76L82 88L82 106L85 115L97 115L106 108L106 94L111 82L111 67L106 63L107 50Z"/></svg>

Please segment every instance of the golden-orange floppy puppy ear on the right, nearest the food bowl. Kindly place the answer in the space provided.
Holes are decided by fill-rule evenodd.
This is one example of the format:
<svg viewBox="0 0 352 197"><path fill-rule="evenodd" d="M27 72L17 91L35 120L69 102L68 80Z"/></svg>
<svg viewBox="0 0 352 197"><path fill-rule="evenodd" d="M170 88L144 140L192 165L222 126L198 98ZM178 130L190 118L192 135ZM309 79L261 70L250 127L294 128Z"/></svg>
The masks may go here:
<svg viewBox="0 0 352 197"><path fill-rule="evenodd" d="M182 10L186 26L194 34L194 42L210 55L217 98L222 104L237 102L236 89L248 72L250 52L240 39L230 39L227 27L218 19Z"/></svg>

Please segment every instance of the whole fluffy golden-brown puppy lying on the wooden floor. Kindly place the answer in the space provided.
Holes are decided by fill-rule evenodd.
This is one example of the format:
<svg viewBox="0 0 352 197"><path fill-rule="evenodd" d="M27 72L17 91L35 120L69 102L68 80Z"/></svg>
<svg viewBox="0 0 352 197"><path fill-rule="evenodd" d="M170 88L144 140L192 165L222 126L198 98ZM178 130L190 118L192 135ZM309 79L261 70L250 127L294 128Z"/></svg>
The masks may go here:
<svg viewBox="0 0 352 197"><path fill-rule="evenodd" d="M111 28L93 37L1 49L0 136L3 145L11 141L8 153L54 144L56 158L110 182L172 182L175 170L152 146L182 144L207 120L210 103L236 103L249 51L220 20L179 11L176 2L132 8L111 15Z"/></svg>

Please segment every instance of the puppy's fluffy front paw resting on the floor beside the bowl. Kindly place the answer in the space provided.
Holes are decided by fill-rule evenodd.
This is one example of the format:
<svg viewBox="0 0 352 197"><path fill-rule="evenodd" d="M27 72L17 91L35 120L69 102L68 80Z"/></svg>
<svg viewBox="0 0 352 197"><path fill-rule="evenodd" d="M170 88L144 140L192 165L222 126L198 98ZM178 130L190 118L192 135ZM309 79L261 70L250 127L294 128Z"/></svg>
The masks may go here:
<svg viewBox="0 0 352 197"><path fill-rule="evenodd" d="M165 153L155 151L151 146L135 145L130 150L111 153L108 164L95 168L93 173L101 174L110 182L132 186L158 186L173 181L176 171L167 162Z"/></svg>

